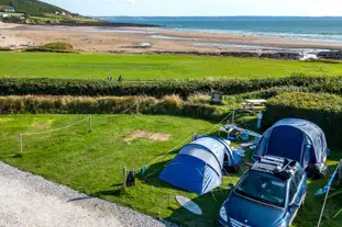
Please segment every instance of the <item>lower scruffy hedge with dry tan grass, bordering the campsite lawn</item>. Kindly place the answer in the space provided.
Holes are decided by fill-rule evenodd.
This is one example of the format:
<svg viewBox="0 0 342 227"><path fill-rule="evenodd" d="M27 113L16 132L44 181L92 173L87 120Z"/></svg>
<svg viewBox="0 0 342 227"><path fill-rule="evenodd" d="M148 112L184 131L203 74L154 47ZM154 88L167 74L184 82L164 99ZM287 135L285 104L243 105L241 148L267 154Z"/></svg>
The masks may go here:
<svg viewBox="0 0 342 227"><path fill-rule="evenodd" d="M133 104L139 103L134 107ZM129 111L126 111L129 110ZM0 114L166 114L222 120L233 109L185 102L177 95L151 97L0 97Z"/></svg>

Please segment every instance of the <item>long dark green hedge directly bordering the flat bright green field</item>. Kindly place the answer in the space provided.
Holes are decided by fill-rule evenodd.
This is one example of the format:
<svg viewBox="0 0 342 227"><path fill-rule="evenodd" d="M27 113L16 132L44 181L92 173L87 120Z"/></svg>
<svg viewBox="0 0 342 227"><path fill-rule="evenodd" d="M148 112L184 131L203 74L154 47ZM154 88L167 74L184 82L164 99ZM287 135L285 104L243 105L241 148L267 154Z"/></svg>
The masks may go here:
<svg viewBox="0 0 342 227"><path fill-rule="evenodd" d="M338 78L341 80L341 78ZM227 79L227 80L152 80L109 81L77 79L23 79L1 78L0 95L150 95L179 94L183 98L194 93L209 93L212 90L224 94L239 94L279 86L308 87L323 83L327 78L295 76L279 79Z"/></svg>

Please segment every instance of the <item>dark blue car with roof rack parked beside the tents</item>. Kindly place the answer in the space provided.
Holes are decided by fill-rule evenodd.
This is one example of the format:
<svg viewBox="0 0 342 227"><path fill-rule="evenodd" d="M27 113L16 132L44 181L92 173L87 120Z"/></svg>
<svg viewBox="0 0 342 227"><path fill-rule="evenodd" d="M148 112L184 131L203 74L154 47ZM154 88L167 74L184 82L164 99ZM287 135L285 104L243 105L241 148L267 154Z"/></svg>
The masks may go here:
<svg viewBox="0 0 342 227"><path fill-rule="evenodd" d="M219 226L287 227L305 203L307 173L295 160L265 156L230 188Z"/></svg>

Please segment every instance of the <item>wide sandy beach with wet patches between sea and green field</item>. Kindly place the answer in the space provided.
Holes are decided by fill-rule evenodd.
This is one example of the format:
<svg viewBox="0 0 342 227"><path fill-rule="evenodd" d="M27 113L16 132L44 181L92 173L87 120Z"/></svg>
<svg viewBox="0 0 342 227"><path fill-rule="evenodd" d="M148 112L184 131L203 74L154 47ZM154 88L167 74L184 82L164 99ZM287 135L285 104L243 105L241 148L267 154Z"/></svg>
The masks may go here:
<svg viewBox="0 0 342 227"><path fill-rule="evenodd" d="M0 46L24 48L66 42L84 52L307 52L342 49L342 43L176 31L165 27L48 26L0 23ZM150 44L142 47L143 43Z"/></svg>

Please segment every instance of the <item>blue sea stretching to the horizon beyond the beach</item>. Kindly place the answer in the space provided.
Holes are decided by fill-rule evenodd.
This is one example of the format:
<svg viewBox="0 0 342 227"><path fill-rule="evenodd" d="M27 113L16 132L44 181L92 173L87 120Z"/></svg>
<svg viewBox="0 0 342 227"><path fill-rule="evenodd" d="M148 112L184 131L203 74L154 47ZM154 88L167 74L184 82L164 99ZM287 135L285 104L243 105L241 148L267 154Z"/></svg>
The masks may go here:
<svg viewBox="0 0 342 227"><path fill-rule="evenodd" d="M100 19L110 22L154 24L169 30L342 42L342 16L100 16Z"/></svg>

